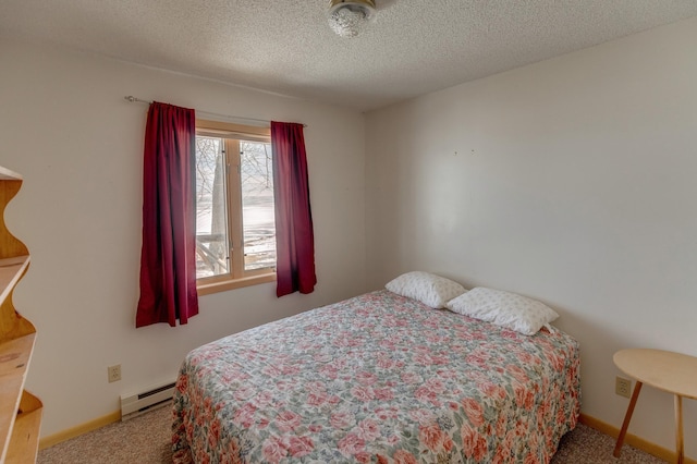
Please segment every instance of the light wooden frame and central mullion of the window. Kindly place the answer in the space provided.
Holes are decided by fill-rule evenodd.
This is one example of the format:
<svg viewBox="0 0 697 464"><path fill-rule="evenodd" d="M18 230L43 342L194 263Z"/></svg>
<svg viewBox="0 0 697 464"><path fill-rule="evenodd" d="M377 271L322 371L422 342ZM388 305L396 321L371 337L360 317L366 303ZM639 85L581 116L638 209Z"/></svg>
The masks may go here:
<svg viewBox="0 0 697 464"><path fill-rule="evenodd" d="M223 139L225 152L228 249L230 255L230 271L228 273L196 279L198 294L207 295L260 283L276 282L276 266L273 268L244 270L244 253L234 253L234 246L242 244L244 234L242 228L240 142L270 144L271 129L196 119L196 136Z"/></svg>

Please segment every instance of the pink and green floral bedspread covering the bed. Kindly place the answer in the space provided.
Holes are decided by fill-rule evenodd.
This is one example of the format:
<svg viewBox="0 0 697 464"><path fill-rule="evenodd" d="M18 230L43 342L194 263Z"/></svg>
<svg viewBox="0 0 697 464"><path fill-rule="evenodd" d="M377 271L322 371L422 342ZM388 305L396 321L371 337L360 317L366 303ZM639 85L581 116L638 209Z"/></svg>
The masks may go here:
<svg viewBox="0 0 697 464"><path fill-rule="evenodd" d="M192 351L176 463L548 463L579 412L578 345L387 290Z"/></svg>

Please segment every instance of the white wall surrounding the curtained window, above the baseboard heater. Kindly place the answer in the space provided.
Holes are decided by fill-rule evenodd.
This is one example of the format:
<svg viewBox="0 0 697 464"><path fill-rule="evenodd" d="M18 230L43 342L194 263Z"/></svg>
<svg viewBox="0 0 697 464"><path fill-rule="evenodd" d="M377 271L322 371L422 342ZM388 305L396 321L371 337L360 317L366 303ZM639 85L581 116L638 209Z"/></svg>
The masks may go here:
<svg viewBox="0 0 697 464"><path fill-rule="evenodd" d="M186 326L135 329L147 106L303 122L319 283L203 296ZM32 266L15 306L38 330L27 388L44 437L119 408L119 395L173 381L191 349L365 291L364 117L357 112L33 45L0 44L0 164L25 183L7 211ZM107 366L123 380L107 382Z"/></svg>

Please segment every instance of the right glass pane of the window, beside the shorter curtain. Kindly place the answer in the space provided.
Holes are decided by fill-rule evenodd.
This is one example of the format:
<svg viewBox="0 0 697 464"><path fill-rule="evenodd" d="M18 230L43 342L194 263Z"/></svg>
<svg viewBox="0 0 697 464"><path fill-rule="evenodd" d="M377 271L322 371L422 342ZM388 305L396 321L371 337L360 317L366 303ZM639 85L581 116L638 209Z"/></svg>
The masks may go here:
<svg viewBox="0 0 697 464"><path fill-rule="evenodd" d="M276 267L271 144L240 143L244 269Z"/></svg>

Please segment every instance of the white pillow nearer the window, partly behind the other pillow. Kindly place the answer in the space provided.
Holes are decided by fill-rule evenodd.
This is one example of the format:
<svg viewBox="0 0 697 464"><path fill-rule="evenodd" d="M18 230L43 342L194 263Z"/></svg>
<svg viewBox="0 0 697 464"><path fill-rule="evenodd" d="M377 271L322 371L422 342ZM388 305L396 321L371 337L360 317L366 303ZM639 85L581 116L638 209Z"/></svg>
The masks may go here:
<svg viewBox="0 0 697 464"><path fill-rule="evenodd" d="M398 295L418 300L432 308L442 308L449 300L466 292L457 282L421 271L403 273L384 288Z"/></svg>

